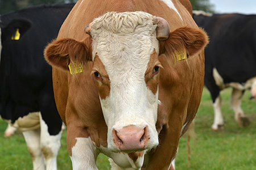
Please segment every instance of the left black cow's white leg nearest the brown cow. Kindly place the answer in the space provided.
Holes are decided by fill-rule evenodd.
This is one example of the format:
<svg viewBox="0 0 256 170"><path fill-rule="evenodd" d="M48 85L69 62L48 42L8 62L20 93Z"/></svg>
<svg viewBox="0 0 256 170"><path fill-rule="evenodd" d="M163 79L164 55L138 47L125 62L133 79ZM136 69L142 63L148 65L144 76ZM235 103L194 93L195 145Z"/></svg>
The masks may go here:
<svg viewBox="0 0 256 170"><path fill-rule="evenodd" d="M50 135L48 133L48 126L40 116L40 150L43 153L44 159L46 160L46 169L47 170L57 170L57 154L60 149L60 138L61 133L57 135Z"/></svg>

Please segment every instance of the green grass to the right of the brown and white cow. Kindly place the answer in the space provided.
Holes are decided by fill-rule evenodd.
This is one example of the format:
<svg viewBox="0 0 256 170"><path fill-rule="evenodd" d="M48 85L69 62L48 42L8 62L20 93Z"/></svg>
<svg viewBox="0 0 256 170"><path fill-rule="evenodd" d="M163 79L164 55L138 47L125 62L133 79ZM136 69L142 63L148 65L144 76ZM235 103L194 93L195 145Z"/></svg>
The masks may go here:
<svg viewBox="0 0 256 170"><path fill-rule="evenodd" d="M222 92L224 130L213 131L213 107L209 92L204 89L195 119L195 143L191 141L191 167L187 167L187 137L180 140L176 169L251 170L256 169L256 101L249 100L250 92L242 98L242 109L251 125L241 128L230 108L231 89Z"/></svg>

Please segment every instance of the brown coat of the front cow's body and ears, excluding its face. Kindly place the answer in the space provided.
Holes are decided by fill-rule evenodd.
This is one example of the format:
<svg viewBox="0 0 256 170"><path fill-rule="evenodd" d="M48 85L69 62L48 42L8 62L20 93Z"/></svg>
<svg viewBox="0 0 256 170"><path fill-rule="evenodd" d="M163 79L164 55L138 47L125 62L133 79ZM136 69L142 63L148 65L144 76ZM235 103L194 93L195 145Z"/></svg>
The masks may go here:
<svg viewBox="0 0 256 170"><path fill-rule="evenodd" d="M96 146L107 146L107 127L98 98L97 83L91 74L92 40L84 33L85 26L108 11L144 11L166 19L170 24L171 34L167 41L161 42L158 58L163 66L159 75L159 100L162 104L159 105L156 122L160 143L150 152L148 164L143 169L168 169L176 156L180 136L191 124L200 104L204 84L203 48L208 42L207 35L197 27L188 7L184 7L183 2L187 2L185 0L180 1L184 6L173 0L183 20L162 1L84 0L80 4L81 2L76 3L63 23L57 40L49 44L45 52L47 61L53 66L57 109L68 129L69 154L72 155L71 148L76 143L76 137L90 137L96 142ZM64 41L66 43L61 44ZM180 49L185 50L188 58L174 62L174 53ZM76 76L63 71L67 70L69 59L83 63L86 71ZM184 124L187 125L181 132Z"/></svg>

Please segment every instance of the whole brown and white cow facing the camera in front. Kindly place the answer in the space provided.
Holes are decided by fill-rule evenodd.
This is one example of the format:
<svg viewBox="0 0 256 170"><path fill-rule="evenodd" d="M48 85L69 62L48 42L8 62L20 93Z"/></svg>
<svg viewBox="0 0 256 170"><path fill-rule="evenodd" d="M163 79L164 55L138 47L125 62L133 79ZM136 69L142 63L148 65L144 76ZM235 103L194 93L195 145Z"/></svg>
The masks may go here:
<svg viewBox="0 0 256 170"><path fill-rule="evenodd" d="M177 0L76 3L45 50L73 169L97 169L100 152L113 169L171 167L204 84L208 37L189 12Z"/></svg>

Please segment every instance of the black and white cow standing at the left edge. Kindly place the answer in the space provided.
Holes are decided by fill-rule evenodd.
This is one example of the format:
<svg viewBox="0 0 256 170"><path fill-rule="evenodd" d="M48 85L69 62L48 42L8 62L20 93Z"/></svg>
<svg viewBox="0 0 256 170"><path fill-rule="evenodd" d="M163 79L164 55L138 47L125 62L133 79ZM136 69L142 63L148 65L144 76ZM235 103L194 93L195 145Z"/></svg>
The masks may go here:
<svg viewBox="0 0 256 170"><path fill-rule="evenodd" d="M43 50L72 7L42 5L0 16L0 114L23 132L33 169L57 169L62 121Z"/></svg>

